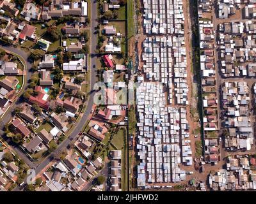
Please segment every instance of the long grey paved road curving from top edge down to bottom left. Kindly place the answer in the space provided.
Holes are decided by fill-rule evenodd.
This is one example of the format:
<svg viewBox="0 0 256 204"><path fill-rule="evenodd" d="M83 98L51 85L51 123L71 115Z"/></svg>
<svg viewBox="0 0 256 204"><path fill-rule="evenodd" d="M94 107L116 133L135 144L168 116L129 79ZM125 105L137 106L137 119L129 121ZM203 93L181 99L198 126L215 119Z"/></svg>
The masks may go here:
<svg viewBox="0 0 256 204"><path fill-rule="evenodd" d="M56 150L54 150L54 152L61 152L62 150L67 149L68 144L70 142L72 142L72 140L76 140L79 137L79 132L82 131L84 124L86 123L86 120L88 119L90 112L92 111L92 105L93 105L93 96L95 94L95 92L93 92L93 85L96 82L96 66L97 66L97 54L95 54L95 50L97 47L97 34L95 33L95 27L97 26L98 22L97 22L97 1L93 1L92 2L92 19L91 19L91 25L92 25L92 29L91 29L91 47L90 47L90 53L91 53L91 57L90 57L90 66L91 66L91 75L90 75L90 86L91 86L91 91L90 91L90 98L88 99L88 106L86 107L86 111L84 112L81 120L79 121L79 123L77 124L76 128L74 129L74 131L68 136L68 138L63 141ZM94 67L95 65L95 67ZM54 156L54 152L52 152L49 156L47 156L44 161L42 161L40 164L38 164L38 166L36 166L35 172L36 174L40 173L40 171L42 171L45 166L47 166L47 164L49 164L52 161L52 157ZM25 184L26 184L26 179L24 180ZM24 185L25 186L25 185ZM20 187L16 187L15 189L13 189L13 191L20 191L22 190L22 188Z"/></svg>

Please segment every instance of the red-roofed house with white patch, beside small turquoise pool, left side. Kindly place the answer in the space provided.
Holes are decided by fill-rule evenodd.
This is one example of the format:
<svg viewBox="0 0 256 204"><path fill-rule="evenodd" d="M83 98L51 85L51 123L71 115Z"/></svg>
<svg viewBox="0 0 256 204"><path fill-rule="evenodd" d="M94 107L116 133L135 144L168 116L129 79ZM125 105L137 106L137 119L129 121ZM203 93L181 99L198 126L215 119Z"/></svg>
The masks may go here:
<svg viewBox="0 0 256 204"><path fill-rule="evenodd" d="M38 96L30 96L29 102L37 104L41 108L44 108L45 110L49 109L50 103L49 103L49 96L45 94L42 87L36 86L35 91L38 92Z"/></svg>

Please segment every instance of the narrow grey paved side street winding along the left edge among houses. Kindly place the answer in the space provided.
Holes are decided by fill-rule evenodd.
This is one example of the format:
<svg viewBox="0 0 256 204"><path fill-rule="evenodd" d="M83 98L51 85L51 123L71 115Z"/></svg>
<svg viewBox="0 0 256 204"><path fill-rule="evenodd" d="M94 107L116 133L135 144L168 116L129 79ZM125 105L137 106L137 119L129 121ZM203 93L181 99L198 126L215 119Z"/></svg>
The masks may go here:
<svg viewBox="0 0 256 204"><path fill-rule="evenodd" d="M27 87L28 87L28 81L31 79L31 72L29 71L32 64L30 62L28 62L28 57L29 57L29 54L27 54L26 52L24 52L23 50L20 50L18 48L15 48L15 47L9 47L9 46L4 46L4 45L0 45L0 48L4 49L4 50L7 50L9 52L13 52L17 55L20 55L20 57L22 57L24 59L24 61L26 62L26 82L24 82L24 89L23 90L26 90ZM15 150L15 152L19 155L19 157L21 159L24 160L24 162L26 164L28 164L28 166L30 168L34 168L35 167L35 164L30 161L28 159L28 157L26 156L26 154L24 154L24 152L22 152L22 150L20 150L19 146L16 145L15 143L13 143L10 138L7 138L6 136L4 136L4 132L3 132L3 128L4 128L4 125L7 124L7 122L9 122L9 120L12 118L12 112L13 110L15 109L15 107L17 105L19 105L22 101L20 100L20 98L14 103L12 104L12 106L10 107L10 109L8 110L8 112L4 115L2 121L1 121L1 124L0 124L0 129L1 129L1 132L0 132L0 135L2 136L2 138L4 139L4 141L6 141L8 143L8 145L10 145L10 147L12 147L13 150Z"/></svg>

